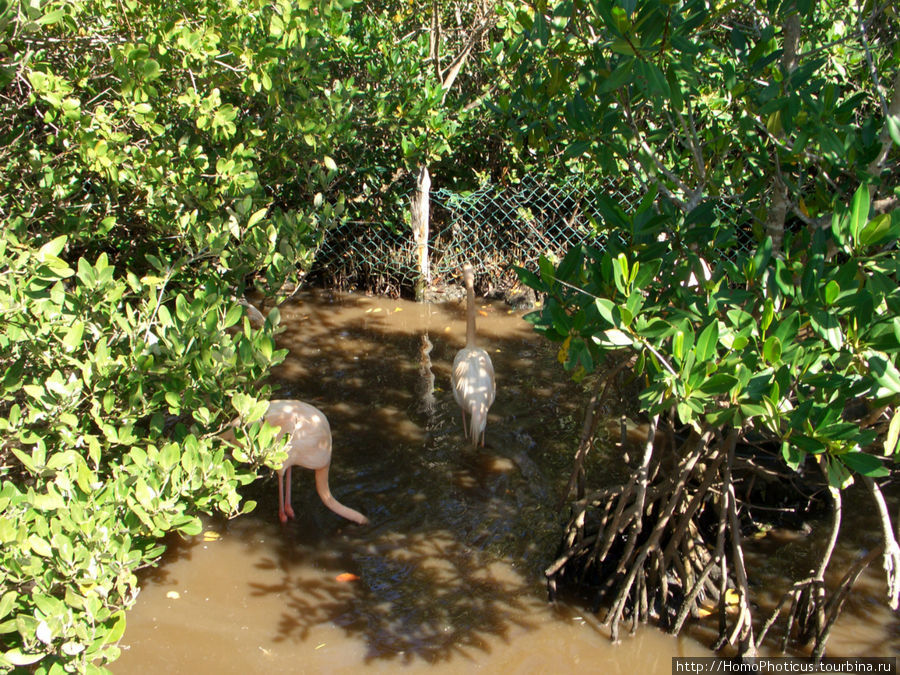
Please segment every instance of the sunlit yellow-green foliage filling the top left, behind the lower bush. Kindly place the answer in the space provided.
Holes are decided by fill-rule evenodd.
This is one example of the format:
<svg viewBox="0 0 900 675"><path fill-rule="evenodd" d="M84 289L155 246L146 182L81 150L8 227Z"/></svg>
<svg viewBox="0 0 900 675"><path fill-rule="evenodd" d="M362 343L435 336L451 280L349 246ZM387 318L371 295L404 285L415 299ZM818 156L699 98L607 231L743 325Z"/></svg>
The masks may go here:
<svg viewBox="0 0 900 675"><path fill-rule="evenodd" d="M5 16L19 55L6 227L68 235L122 269L180 261L176 283L242 287L264 270L274 293L308 266L345 208L329 193L356 95L332 72L341 3L16 2Z"/></svg>

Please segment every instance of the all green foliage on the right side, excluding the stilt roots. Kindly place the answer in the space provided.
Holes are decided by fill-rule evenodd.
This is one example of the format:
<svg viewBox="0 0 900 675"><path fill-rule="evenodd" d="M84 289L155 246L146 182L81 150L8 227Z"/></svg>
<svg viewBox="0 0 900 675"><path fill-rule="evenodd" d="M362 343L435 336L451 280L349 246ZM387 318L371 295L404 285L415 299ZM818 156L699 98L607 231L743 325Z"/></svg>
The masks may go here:
<svg viewBox="0 0 900 675"><path fill-rule="evenodd" d="M898 17L872 8L863 34L856 11L519 8L504 106L521 143L645 192L610 197L602 248L520 272L546 294L530 318L565 366L631 354L647 412L778 443L795 468L819 456L835 486L884 475L900 433ZM894 420L877 438L865 418L883 407Z"/></svg>

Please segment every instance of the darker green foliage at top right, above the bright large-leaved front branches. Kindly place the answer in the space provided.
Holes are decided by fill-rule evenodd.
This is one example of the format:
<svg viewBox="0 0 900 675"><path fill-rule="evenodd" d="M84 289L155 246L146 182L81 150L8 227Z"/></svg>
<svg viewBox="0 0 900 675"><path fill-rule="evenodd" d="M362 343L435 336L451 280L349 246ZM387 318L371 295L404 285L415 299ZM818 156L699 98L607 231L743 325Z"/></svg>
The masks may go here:
<svg viewBox="0 0 900 675"><path fill-rule="evenodd" d="M776 174L792 197L789 218L829 217L836 197L852 196L854 174L879 156L882 131L900 125L882 109L898 67L894 7L560 0L536 8L507 3L521 36L510 52L516 86L495 104L518 145L549 165L652 187L683 214L695 211L692 236L703 245L734 243L733 231L711 227L725 211L762 240ZM798 56L785 62L792 17Z"/></svg>

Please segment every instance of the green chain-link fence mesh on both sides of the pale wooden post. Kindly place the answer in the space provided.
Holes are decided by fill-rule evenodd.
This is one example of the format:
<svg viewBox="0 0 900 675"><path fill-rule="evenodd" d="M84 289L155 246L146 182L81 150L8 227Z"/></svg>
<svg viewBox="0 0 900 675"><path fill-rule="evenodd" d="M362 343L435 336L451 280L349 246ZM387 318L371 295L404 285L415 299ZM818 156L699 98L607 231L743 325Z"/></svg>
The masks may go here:
<svg viewBox="0 0 900 675"><path fill-rule="evenodd" d="M577 177L526 178L515 185L492 184L467 193L431 193L429 250L431 283L455 279L464 262L495 286L509 286L511 265L534 270L541 255L562 258L576 244L603 247L601 203L632 210L642 194L608 180L588 185ZM399 293L418 278L415 243L409 226L401 230L350 221L326 236L314 265L331 285Z"/></svg>

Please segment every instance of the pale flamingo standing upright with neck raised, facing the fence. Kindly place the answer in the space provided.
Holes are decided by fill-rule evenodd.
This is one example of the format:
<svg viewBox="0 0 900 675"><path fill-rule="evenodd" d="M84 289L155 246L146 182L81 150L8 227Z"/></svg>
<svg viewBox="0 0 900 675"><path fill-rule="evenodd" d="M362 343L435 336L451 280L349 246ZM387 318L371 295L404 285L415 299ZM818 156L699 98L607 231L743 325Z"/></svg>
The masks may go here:
<svg viewBox="0 0 900 675"><path fill-rule="evenodd" d="M462 409L463 433L476 446L480 436L483 447L487 412L497 394L497 384L491 357L475 346L475 272L468 263L463 265L463 279L466 282L466 346L453 359L453 398Z"/></svg>

